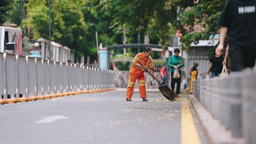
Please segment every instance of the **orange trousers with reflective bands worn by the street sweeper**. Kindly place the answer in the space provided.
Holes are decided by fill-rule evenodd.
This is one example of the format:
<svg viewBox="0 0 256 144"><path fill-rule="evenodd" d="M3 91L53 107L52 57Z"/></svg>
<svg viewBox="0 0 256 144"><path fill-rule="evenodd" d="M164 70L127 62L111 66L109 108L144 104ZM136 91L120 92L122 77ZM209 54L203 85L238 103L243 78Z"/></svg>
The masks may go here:
<svg viewBox="0 0 256 144"><path fill-rule="evenodd" d="M141 98L146 98L146 86L145 86L145 77L144 74L142 75L137 75L137 74L130 74L129 76L129 81L127 85L127 94L126 98L131 98L135 86L135 82L138 79L138 86L140 90L140 97Z"/></svg>

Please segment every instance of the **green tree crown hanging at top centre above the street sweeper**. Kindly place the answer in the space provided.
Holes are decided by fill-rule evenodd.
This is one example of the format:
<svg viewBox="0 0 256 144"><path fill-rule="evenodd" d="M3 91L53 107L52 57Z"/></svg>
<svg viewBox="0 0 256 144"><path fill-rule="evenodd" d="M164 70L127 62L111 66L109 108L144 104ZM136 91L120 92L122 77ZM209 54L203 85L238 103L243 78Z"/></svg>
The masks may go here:
<svg viewBox="0 0 256 144"><path fill-rule="evenodd" d="M175 9L164 9L167 0L101 0L99 5L110 16L112 27L127 24L132 34L141 27L141 37L159 39L158 43L169 45L173 34L172 22L176 17Z"/></svg>

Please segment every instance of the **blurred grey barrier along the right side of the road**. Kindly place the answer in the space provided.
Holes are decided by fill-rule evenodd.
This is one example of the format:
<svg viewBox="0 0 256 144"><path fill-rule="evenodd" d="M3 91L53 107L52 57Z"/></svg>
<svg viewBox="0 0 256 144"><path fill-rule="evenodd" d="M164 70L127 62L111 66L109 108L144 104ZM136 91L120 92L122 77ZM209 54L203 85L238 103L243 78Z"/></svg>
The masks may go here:
<svg viewBox="0 0 256 144"><path fill-rule="evenodd" d="M193 81L195 97L233 137L256 144L256 73Z"/></svg>

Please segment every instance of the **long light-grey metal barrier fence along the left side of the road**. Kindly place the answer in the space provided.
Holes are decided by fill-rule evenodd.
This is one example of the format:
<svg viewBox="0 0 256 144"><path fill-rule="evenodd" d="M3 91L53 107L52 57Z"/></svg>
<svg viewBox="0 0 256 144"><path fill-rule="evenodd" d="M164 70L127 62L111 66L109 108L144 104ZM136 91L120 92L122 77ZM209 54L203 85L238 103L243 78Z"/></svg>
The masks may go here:
<svg viewBox="0 0 256 144"><path fill-rule="evenodd" d="M0 73L3 98L114 87L114 72L110 70L8 53L0 53Z"/></svg>

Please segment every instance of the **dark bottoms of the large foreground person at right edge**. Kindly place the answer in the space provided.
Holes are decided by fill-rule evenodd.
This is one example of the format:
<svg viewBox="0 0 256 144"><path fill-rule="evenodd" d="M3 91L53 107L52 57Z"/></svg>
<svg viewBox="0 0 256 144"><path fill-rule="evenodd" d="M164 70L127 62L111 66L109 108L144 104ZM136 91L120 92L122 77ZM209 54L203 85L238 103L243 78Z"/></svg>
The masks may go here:
<svg viewBox="0 0 256 144"><path fill-rule="evenodd" d="M229 45L229 58L231 59L232 71L242 71L246 67L254 67L256 59L255 48L240 48Z"/></svg>

